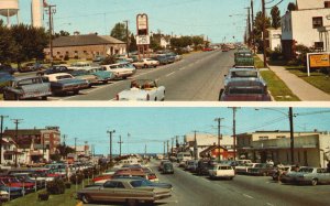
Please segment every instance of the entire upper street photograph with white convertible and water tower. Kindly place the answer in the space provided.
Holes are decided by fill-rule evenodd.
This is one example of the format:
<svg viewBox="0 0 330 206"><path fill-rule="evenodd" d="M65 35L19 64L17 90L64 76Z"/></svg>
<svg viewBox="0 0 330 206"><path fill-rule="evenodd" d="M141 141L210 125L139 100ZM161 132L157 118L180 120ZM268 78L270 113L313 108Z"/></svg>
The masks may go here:
<svg viewBox="0 0 330 206"><path fill-rule="evenodd" d="M1 0L0 100L329 101L326 0Z"/></svg>

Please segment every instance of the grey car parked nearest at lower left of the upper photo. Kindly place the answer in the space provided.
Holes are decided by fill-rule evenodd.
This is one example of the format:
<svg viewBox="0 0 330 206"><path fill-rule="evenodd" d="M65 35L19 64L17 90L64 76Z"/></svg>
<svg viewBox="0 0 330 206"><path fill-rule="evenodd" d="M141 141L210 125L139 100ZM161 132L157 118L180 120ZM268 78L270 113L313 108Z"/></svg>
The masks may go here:
<svg viewBox="0 0 330 206"><path fill-rule="evenodd" d="M45 83L42 77L15 77L10 86L3 88L4 100L21 100L42 98L46 100L52 95L51 84Z"/></svg>

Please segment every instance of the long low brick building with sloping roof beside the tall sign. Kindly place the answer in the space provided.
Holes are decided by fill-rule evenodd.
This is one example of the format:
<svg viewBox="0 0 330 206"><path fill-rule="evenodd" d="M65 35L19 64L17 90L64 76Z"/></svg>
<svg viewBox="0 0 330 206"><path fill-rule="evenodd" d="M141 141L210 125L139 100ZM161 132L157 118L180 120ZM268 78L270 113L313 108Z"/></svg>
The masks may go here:
<svg viewBox="0 0 330 206"><path fill-rule="evenodd" d="M124 42L110 35L75 34L53 40L53 57L54 59L64 59L65 56L92 59L96 56L124 54L127 53L125 47ZM50 47L45 48L44 52L46 58L50 59Z"/></svg>

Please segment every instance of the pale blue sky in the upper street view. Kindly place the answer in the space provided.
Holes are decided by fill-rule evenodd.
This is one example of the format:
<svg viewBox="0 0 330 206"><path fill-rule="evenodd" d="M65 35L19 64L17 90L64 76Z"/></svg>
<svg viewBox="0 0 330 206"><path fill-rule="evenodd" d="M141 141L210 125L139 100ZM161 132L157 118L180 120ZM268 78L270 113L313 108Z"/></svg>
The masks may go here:
<svg viewBox="0 0 330 206"><path fill-rule="evenodd" d="M1 1L1 0L0 0ZM254 0L254 13L261 11ZM284 14L293 0L266 0L266 8L277 2ZM212 43L242 41L246 25L246 7L251 0L47 0L56 4L54 30L81 34L109 35L118 22L129 20L130 31L136 33L136 14L148 15L150 31L165 34L208 36ZM270 13L270 10L267 10ZM232 15L232 17L229 17ZM1 17L4 20L4 18ZM31 24L31 0L20 0L20 21ZM44 23L48 20L45 15ZM235 36L233 40L232 36Z"/></svg>

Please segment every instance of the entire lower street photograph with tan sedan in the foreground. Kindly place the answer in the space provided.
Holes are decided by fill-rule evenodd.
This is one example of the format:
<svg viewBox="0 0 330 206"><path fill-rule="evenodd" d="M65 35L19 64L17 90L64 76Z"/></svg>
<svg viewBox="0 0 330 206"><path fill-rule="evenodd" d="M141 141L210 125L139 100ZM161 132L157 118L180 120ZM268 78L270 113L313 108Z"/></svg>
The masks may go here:
<svg viewBox="0 0 330 206"><path fill-rule="evenodd" d="M4 205L329 205L330 108L2 107Z"/></svg>

